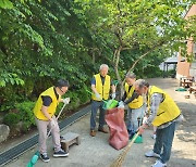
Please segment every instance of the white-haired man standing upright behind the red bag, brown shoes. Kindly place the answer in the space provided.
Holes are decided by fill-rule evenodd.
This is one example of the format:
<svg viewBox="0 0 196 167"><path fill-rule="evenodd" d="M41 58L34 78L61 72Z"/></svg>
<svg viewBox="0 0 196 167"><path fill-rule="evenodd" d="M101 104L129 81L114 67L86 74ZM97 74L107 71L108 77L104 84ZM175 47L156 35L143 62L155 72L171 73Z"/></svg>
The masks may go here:
<svg viewBox="0 0 196 167"><path fill-rule="evenodd" d="M91 115L90 115L90 136L96 136L96 115L99 108L99 127L98 131L108 133L108 130L103 127L105 121L105 110L103 101L108 100L110 90L112 90L112 99L115 98L115 86L112 84L110 76L108 75L108 65L102 64L99 68L98 74L94 75L91 79Z"/></svg>

